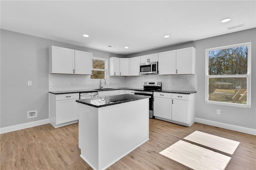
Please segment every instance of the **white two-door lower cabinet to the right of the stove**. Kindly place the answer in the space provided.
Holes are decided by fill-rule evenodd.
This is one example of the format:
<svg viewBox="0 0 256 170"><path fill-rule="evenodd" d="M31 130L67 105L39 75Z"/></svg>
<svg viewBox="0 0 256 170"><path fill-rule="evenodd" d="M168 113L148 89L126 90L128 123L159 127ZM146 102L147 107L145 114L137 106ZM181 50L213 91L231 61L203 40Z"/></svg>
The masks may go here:
<svg viewBox="0 0 256 170"><path fill-rule="evenodd" d="M190 127L195 122L195 93L177 94L154 92L156 119Z"/></svg>

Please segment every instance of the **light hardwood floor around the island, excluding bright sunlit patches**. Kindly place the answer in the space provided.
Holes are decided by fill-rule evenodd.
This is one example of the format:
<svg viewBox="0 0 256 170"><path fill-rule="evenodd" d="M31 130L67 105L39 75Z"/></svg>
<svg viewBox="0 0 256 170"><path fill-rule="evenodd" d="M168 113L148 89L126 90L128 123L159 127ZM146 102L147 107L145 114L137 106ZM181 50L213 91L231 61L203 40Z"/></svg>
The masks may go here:
<svg viewBox="0 0 256 170"><path fill-rule="evenodd" d="M184 127L157 119L150 119L150 140L110 166L108 170L190 169L162 156L159 152L178 140L184 140L185 136L195 130L240 142L233 155L218 151L231 157L226 170L256 170L256 136L200 123ZM1 170L92 169L80 158L78 123L56 129L47 124L1 134L0 145Z"/></svg>

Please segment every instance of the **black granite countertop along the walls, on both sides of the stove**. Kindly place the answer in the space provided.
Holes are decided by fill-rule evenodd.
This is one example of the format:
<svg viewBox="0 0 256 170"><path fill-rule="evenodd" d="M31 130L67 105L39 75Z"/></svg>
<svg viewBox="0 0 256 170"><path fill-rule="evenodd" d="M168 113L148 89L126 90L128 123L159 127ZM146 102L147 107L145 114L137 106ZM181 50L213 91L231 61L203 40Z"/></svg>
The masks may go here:
<svg viewBox="0 0 256 170"><path fill-rule="evenodd" d="M84 90L66 90L66 91L49 91L54 95L59 94L66 94L66 93L90 93L90 92L97 92L97 91L105 91L105 90L137 90L137 91L144 91L144 89L136 89L130 87L119 87L119 88L111 88L111 89L84 89ZM165 93L181 93L181 94L193 94L196 91L179 91L179 90L163 90L157 92L165 92Z"/></svg>

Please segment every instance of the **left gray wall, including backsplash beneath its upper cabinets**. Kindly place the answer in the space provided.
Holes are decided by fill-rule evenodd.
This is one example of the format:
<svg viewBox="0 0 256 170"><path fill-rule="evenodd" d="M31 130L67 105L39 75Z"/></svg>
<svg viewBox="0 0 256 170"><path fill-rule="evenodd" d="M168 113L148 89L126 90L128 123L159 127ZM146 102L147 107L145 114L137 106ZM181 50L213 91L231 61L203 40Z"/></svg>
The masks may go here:
<svg viewBox="0 0 256 170"><path fill-rule="evenodd" d="M32 121L48 119L49 91L49 55L50 45L92 52L95 57L122 57L104 51L80 47L68 43L56 42L8 30L0 30L1 36L1 113L0 127L19 125ZM72 77L73 76L73 77ZM88 76L82 75L50 75L52 90L80 88ZM28 80L32 86L28 86ZM62 81L60 81L62 80ZM70 80L74 85L70 85ZM110 77L108 83L122 85L124 77ZM99 80L87 81L88 87L99 87ZM27 111L38 110L38 117L27 119Z"/></svg>

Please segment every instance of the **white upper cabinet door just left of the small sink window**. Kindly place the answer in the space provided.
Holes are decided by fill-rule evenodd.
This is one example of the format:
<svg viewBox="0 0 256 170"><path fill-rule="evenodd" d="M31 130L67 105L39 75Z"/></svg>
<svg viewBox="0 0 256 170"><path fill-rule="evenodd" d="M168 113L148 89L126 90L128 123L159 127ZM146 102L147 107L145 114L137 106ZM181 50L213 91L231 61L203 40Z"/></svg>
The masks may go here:
<svg viewBox="0 0 256 170"><path fill-rule="evenodd" d="M92 74L92 53L75 50L75 74Z"/></svg>

